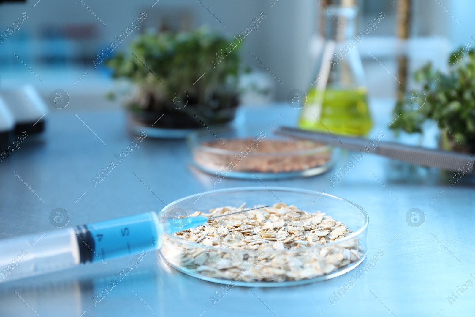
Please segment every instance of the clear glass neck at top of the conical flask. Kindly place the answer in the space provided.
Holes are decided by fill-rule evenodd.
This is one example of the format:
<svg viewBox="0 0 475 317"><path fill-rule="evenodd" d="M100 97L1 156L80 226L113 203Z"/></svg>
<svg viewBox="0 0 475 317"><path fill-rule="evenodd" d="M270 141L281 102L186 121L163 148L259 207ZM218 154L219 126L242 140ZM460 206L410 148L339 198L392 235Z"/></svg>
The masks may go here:
<svg viewBox="0 0 475 317"><path fill-rule="evenodd" d="M325 9L325 38L343 42L355 33L356 6L328 6Z"/></svg>

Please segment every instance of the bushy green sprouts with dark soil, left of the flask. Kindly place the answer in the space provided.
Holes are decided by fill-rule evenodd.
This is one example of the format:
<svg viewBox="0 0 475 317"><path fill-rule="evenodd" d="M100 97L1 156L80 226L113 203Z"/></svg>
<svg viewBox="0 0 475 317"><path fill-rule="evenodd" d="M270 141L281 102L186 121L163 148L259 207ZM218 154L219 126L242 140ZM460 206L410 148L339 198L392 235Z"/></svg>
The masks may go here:
<svg viewBox="0 0 475 317"><path fill-rule="evenodd" d="M133 122L186 132L233 120L240 68L240 45L233 39L205 27L135 38L127 55L107 63L114 78L133 84L125 99Z"/></svg>

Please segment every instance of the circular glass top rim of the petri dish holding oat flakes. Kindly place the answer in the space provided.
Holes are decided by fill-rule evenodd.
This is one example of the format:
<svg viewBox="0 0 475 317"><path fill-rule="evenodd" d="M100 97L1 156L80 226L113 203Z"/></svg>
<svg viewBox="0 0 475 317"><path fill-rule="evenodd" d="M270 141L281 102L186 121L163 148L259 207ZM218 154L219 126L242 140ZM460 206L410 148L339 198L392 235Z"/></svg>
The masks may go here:
<svg viewBox="0 0 475 317"><path fill-rule="evenodd" d="M342 202L346 202L350 205L353 205L354 207L356 207L361 212L361 214L364 217L364 224L357 231L352 232L350 235L348 235L348 236L346 236L343 239L338 240L338 241L333 241L333 242L330 242L330 243L326 243L326 244L323 244L321 246L314 246L314 247L301 248L301 249L295 249L295 250L272 250L272 251L266 251L266 253L271 253L271 254L275 254L275 253L282 254L282 253L287 253L287 252L288 253L298 253L298 252L303 252L303 251L307 251L307 250L323 249L323 248L326 248L326 247L329 247L329 246L332 246L332 245L338 245L338 244L342 243L343 241L347 241L347 240L350 240L352 238L358 237L362 232L364 232L364 231L366 231L366 229L368 229L368 224L369 224L370 219L369 219L368 213L366 213L366 211L363 208L361 208L359 205L355 204L354 202L351 202L349 200L346 200L346 199L338 197L338 196L334 196L332 194L328 194L326 192L316 192L316 191L310 191L310 190L298 189L298 188L291 188L291 187L276 187L276 186L274 186L274 187L262 187L262 186L260 186L259 187L259 186L255 186L255 187L225 188L225 189L218 189L218 190L209 191L209 192L205 192L205 193L206 194L214 194L214 193L219 193L219 192L269 191L269 190L280 191L280 192L297 192L297 193L305 193L305 194L314 194L314 195L318 195L318 197L323 195L323 196L330 197L330 198L333 198L333 199L336 199L336 200L340 200ZM183 198L180 198L180 199L178 199L174 202L169 203L168 205L163 207L160 210L160 212L158 213L159 220L161 221L161 218L162 218L164 212L166 210L168 210L172 205L174 205L176 203L179 203L179 202L184 202L186 200L190 200L190 199L193 199L193 198L201 197L205 193L193 194L193 195L183 197ZM180 239L180 238L175 237L172 234L169 234L168 232L165 232L165 231L163 231L163 234L167 235L167 237L169 239L172 239L173 241L175 241L177 243L187 244L187 245L190 245L190 246L193 246L193 247L199 247L199 248L206 247L206 246L203 246L202 244L199 244L199 243L190 242L190 241L187 241L187 240ZM232 249L228 249L228 248L216 248L216 247L206 247L206 248L208 248L209 250L216 250L216 251L221 251L221 252L233 252L233 253L259 253L260 252L260 250L232 250ZM365 250L365 253L366 253L366 250Z"/></svg>

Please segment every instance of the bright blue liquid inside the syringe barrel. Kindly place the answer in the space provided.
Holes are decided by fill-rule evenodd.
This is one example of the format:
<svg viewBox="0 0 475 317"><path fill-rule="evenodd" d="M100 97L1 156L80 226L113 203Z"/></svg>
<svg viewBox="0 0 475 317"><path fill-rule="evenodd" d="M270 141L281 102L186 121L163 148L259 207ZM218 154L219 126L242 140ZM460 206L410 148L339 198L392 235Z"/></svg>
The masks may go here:
<svg viewBox="0 0 475 317"><path fill-rule="evenodd" d="M89 223L85 227L94 240L91 261L114 259L128 254L158 249L160 232L156 214L146 212L108 221ZM92 243L90 243L90 246Z"/></svg>

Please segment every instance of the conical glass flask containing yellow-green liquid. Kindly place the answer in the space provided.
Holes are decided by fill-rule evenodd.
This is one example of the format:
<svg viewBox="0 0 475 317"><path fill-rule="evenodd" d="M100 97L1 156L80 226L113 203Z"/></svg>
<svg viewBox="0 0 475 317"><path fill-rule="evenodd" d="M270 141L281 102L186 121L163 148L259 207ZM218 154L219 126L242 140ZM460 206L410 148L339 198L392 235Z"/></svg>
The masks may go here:
<svg viewBox="0 0 475 317"><path fill-rule="evenodd" d="M371 129L367 88L354 37L355 6L328 6L325 45L299 126L336 134L364 135Z"/></svg>

